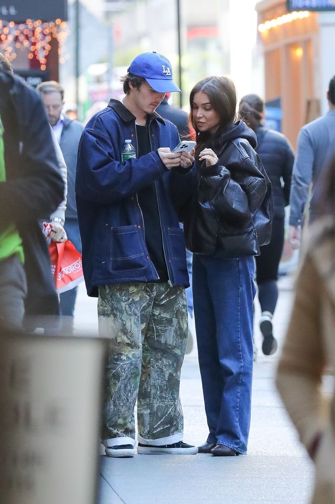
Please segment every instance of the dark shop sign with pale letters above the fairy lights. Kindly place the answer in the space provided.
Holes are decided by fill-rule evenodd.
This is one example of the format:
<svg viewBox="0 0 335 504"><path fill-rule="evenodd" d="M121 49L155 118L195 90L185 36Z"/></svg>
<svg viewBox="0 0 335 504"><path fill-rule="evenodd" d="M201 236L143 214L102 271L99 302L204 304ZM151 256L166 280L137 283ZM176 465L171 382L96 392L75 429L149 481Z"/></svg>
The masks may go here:
<svg viewBox="0 0 335 504"><path fill-rule="evenodd" d="M67 20L67 0L0 0L0 19L25 22Z"/></svg>

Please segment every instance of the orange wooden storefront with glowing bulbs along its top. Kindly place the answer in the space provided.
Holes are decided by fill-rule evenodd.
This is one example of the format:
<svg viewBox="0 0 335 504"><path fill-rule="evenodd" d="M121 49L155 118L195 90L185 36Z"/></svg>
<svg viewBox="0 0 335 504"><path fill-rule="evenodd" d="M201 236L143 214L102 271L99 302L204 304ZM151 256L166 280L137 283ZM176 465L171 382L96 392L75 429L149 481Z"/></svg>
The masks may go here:
<svg viewBox="0 0 335 504"><path fill-rule="evenodd" d="M301 9L290 11L289 4ZM281 130L294 147L302 125L327 110L326 91L335 74L335 12L325 10L331 4L333 10L333 2L316 0L261 0L256 6L264 96L269 109L280 110Z"/></svg>

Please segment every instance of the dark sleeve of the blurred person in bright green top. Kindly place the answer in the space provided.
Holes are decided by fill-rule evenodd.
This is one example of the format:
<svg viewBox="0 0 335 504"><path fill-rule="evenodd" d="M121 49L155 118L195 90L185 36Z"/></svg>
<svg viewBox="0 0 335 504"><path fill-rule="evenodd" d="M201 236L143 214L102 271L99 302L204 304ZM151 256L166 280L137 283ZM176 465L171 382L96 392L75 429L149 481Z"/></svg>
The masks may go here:
<svg viewBox="0 0 335 504"><path fill-rule="evenodd" d="M20 153L9 159L19 163L15 178L0 182L0 226L49 216L64 198L62 180L44 106L37 93L19 83L12 94L20 120ZM7 162L7 161L6 161Z"/></svg>

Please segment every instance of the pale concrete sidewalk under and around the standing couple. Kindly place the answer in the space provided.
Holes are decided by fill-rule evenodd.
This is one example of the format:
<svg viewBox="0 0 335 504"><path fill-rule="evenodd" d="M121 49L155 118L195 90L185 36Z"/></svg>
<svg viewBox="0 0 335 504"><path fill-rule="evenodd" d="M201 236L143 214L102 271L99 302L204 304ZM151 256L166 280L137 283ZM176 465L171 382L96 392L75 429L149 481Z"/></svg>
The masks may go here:
<svg viewBox="0 0 335 504"><path fill-rule="evenodd" d="M210 504L307 504L312 487L312 464L299 444L274 384L291 310L292 277L282 278L279 286L274 317L279 350L270 357L258 351L247 456L136 455L133 459L102 456L97 504L204 504L206 501ZM80 292L83 292L82 286ZM95 300L93 305L96 309ZM87 304L83 317L89 317L89 311ZM80 312L83 313L81 309ZM255 317L258 321L257 305ZM255 339L260 348L257 323ZM202 444L208 431L195 346L185 357L181 398L184 440Z"/></svg>

